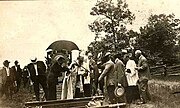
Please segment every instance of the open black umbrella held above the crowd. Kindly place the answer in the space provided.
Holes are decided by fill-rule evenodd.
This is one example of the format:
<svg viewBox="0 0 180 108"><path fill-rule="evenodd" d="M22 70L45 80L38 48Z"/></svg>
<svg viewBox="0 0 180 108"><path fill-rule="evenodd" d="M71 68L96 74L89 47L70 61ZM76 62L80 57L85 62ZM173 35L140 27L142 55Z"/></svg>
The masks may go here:
<svg viewBox="0 0 180 108"><path fill-rule="evenodd" d="M60 51L62 49L66 49L68 51L79 50L78 46L74 42L68 40L55 41L46 50L48 49L57 50L57 51Z"/></svg>

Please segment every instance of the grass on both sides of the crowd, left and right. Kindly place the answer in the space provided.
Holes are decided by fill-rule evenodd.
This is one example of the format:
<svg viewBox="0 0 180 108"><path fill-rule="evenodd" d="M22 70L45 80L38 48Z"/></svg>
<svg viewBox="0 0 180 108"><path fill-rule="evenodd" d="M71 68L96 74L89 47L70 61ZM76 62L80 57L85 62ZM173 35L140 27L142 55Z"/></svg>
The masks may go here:
<svg viewBox="0 0 180 108"><path fill-rule="evenodd" d="M180 76L179 76L180 77ZM129 108L180 108L179 77L155 78L149 81L149 91L152 101L145 105L129 105ZM12 100L0 100L0 108L23 108L24 103L31 101L33 94L21 88L17 94L13 95Z"/></svg>

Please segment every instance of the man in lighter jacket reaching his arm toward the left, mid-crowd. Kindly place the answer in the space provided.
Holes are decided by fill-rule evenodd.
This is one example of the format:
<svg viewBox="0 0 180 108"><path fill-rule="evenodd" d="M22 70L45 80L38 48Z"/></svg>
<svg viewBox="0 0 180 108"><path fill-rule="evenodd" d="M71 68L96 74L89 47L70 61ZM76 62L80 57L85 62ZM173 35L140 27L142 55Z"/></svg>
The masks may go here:
<svg viewBox="0 0 180 108"><path fill-rule="evenodd" d="M110 55L111 55L110 52L107 52L103 57L103 61L105 62L103 66L105 68L101 73L101 75L99 76L98 82L100 82L103 78L106 77L105 86L107 89L107 95L109 97L110 103L113 104L116 103L115 94L114 94L116 81L115 81L114 63L112 62Z"/></svg>

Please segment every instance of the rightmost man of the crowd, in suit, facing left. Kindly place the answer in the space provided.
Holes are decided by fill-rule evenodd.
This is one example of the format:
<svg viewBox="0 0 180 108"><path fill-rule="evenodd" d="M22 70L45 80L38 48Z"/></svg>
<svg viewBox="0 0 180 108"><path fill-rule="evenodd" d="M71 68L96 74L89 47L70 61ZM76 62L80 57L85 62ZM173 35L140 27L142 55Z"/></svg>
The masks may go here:
<svg viewBox="0 0 180 108"><path fill-rule="evenodd" d="M140 96L142 97L141 103L146 103L150 100L150 94L148 91L148 80L150 78L150 69L148 65L147 59L142 55L140 50L135 51L135 56L138 58L138 65L135 68L138 70L139 75L139 89L140 89Z"/></svg>

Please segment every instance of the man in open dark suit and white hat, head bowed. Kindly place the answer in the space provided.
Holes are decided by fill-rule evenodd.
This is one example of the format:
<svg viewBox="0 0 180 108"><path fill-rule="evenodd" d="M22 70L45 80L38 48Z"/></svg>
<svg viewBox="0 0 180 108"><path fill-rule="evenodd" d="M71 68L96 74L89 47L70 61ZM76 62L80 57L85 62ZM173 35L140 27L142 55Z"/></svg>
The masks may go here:
<svg viewBox="0 0 180 108"><path fill-rule="evenodd" d="M47 78L46 78L46 66L43 61L37 61L37 58L31 59L30 64L28 64L28 70L30 72L30 78L33 82L34 92L36 95L36 100L39 101L39 84L41 84L43 91L45 93L45 98L47 99Z"/></svg>

